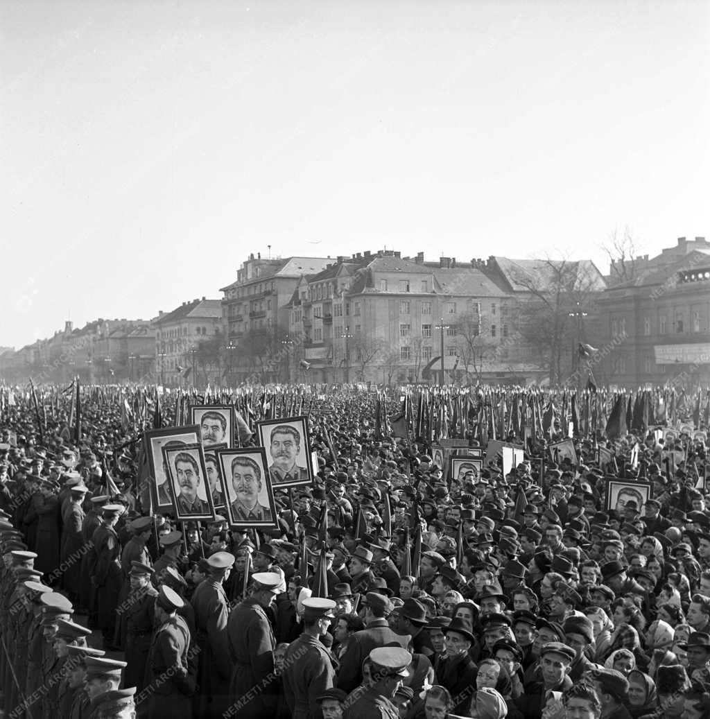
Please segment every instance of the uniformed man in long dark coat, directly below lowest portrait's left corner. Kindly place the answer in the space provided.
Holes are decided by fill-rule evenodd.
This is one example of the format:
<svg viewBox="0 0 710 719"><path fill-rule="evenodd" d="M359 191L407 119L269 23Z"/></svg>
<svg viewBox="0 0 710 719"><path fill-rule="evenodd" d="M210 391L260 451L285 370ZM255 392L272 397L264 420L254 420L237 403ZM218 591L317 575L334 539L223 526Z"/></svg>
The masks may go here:
<svg viewBox="0 0 710 719"><path fill-rule="evenodd" d="M192 595L197 646L200 649L196 714L201 717L220 717L229 703L227 690L232 674L227 640L229 603L222 585L234 563L234 555L227 551L212 554L206 559L209 575Z"/></svg>

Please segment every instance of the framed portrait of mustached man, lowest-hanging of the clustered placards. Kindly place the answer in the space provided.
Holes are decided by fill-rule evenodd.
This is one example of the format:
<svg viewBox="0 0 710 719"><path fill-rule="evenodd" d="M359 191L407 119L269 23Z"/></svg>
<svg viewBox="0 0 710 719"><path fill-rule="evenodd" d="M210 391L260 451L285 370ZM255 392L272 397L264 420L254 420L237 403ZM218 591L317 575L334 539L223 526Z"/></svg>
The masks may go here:
<svg viewBox="0 0 710 719"><path fill-rule="evenodd" d="M266 450L218 449L217 460L224 477L229 524L240 528L278 526Z"/></svg>

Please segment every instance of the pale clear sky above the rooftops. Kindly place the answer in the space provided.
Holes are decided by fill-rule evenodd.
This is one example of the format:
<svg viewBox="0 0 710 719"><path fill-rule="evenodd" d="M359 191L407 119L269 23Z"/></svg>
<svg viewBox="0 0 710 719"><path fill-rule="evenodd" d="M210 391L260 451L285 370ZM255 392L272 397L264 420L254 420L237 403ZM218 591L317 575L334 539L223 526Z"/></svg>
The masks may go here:
<svg viewBox="0 0 710 719"><path fill-rule="evenodd" d="M710 2L0 5L0 345L219 298L249 252L710 237Z"/></svg>

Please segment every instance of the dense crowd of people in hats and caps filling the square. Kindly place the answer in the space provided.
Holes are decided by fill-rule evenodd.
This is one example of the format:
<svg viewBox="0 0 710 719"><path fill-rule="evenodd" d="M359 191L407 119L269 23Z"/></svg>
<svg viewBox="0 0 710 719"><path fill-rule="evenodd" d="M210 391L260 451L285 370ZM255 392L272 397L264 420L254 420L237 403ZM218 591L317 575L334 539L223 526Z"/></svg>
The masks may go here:
<svg viewBox="0 0 710 719"><path fill-rule="evenodd" d="M142 506L140 436L101 395L78 433L15 397L5 718L710 717L702 431L575 436L555 462L555 423L505 474L496 455L452 475L366 393L331 393L307 419L315 481L277 487L257 531Z"/></svg>

